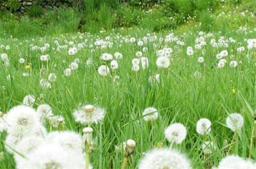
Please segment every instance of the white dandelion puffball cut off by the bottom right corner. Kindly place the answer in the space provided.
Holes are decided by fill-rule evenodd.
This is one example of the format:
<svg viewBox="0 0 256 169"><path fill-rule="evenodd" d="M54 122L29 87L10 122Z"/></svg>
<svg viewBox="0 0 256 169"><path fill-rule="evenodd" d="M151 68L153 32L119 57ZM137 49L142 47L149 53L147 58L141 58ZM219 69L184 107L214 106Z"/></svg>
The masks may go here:
<svg viewBox="0 0 256 169"><path fill-rule="evenodd" d="M256 169L256 163L237 155L229 155L221 160L218 169Z"/></svg>

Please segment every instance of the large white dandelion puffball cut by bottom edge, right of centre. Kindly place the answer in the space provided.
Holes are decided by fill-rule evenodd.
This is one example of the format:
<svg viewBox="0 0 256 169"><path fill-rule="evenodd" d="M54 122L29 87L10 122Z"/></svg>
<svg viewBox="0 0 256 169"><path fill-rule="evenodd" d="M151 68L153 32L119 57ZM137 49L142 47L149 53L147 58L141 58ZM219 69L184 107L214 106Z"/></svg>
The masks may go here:
<svg viewBox="0 0 256 169"><path fill-rule="evenodd" d="M138 169L192 169L184 154L167 148L148 151L140 161Z"/></svg>

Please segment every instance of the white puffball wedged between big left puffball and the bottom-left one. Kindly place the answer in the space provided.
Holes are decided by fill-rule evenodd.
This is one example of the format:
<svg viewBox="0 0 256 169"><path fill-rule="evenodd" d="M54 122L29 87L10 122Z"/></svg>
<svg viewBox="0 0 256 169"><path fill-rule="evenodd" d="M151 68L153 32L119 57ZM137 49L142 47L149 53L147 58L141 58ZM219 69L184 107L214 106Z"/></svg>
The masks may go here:
<svg viewBox="0 0 256 169"><path fill-rule="evenodd" d="M22 138L16 146L16 151L20 152L22 155L27 156L29 153L37 149L40 145L44 143L45 139L37 136L29 136ZM22 159L19 154L14 154L15 161L18 162Z"/></svg>

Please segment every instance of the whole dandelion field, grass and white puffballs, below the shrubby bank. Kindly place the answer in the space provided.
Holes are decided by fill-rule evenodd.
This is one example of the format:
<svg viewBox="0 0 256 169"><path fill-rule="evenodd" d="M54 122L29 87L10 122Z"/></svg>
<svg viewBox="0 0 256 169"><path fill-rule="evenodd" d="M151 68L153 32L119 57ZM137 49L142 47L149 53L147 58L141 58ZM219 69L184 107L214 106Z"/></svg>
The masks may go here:
<svg viewBox="0 0 256 169"><path fill-rule="evenodd" d="M255 168L256 29L136 31L0 38L0 168Z"/></svg>

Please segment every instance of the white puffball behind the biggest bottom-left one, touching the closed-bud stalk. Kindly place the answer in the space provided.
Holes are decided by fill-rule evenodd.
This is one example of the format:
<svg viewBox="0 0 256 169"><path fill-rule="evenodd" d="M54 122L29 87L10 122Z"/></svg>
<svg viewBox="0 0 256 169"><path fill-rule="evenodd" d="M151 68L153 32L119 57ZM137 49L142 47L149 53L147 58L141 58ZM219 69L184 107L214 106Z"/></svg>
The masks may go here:
<svg viewBox="0 0 256 169"><path fill-rule="evenodd" d="M82 136L74 131L53 131L47 135L46 140L49 143L82 153Z"/></svg>

